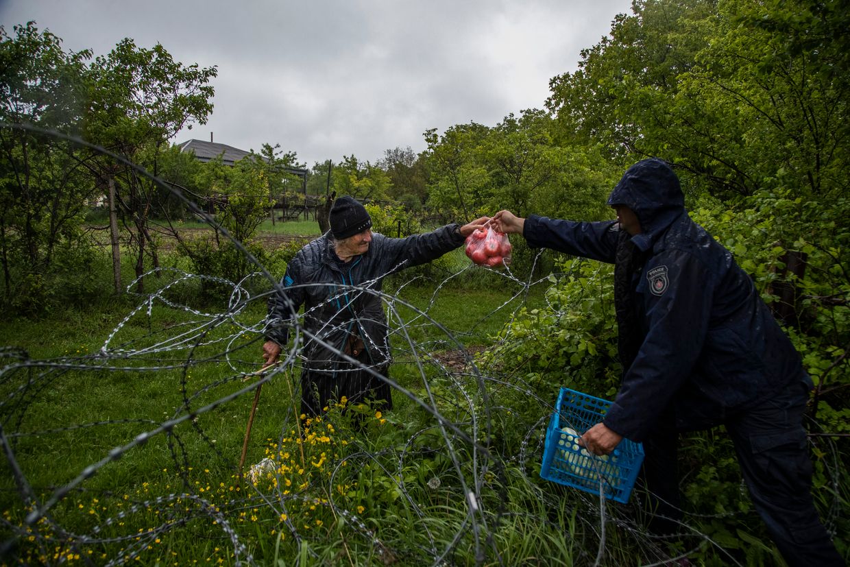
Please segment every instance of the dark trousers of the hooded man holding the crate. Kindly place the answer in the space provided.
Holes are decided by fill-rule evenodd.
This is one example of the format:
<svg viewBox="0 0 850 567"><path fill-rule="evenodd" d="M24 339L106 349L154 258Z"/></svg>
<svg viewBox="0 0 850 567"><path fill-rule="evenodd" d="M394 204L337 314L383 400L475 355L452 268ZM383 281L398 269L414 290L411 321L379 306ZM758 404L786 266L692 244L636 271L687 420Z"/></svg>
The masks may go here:
<svg viewBox="0 0 850 567"><path fill-rule="evenodd" d="M791 567L844 565L814 507L812 462L802 428L807 400L806 388L794 384L747 411L728 416L724 424L753 506L785 561ZM643 480L655 495L655 502L649 502L657 514L650 520L650 530L671 533L682 518L675 465L677 434L675 428L662 429L643 444Z"/></svg>

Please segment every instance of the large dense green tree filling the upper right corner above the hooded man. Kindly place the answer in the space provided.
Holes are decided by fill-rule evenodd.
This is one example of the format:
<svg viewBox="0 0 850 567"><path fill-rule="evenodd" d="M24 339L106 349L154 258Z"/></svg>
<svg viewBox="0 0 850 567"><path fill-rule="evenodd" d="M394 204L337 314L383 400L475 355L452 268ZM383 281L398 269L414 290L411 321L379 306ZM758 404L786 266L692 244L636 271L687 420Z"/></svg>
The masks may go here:
<svg viewBox="0 0 850 567"><path fill-rule="evenodd" d="M846 3L644 0L555 77L562 135L660 156L720 196L847 189Z"/></svg>

